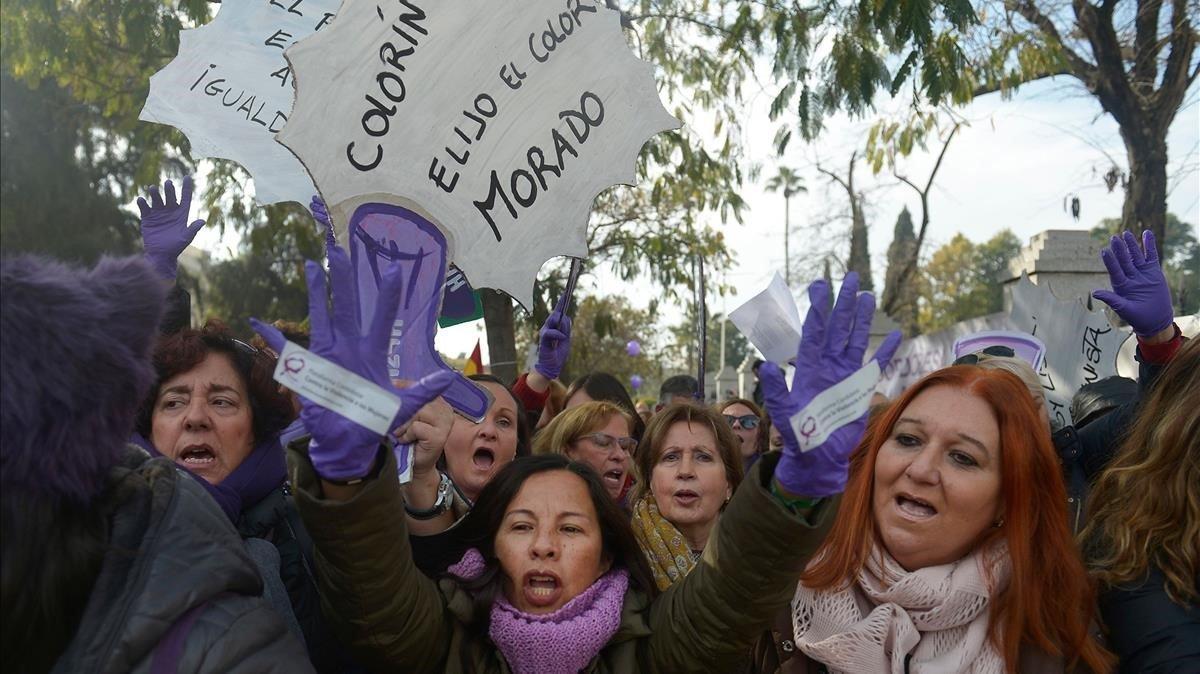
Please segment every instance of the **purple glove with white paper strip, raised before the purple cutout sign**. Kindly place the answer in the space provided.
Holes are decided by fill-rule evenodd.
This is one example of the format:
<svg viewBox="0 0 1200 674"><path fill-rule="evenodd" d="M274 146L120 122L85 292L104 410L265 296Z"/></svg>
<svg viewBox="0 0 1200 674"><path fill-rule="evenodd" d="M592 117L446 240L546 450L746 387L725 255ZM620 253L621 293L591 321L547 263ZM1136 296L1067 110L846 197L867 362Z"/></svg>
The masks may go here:
<svg viewBox="0 0 1200 674"><path fill-rule="evenodd" d="M454 373L436 372L407 389L394 389L388 377L388 341L400 307L404 279L402 270L397 265L384 275L374 318L366 335L359 329L358 284L354 283L350 257L344 248L334 245L329 249L329 270L334 284L332 317L325 307L324 270L314 261L305 264L308 317L312 321L310 350L398 396L400 411L391 422L392 428L398 428L426 403L440 396L454 381ZM283 350L286 338L278 330L256 319L250 319L250 323L276 353ZM318 475L326 480L347 481L371 471L379 444L384 440L378 433L302 397L300 420L312 434L308 457Z"/></svg>

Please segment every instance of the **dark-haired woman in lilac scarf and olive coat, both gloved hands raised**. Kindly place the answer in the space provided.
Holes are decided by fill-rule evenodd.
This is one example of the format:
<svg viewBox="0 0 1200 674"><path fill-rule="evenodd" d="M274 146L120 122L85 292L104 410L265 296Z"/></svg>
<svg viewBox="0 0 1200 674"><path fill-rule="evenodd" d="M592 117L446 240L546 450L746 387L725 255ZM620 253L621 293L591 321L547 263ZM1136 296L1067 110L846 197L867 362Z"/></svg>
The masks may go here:
<svg viewBox="0 0 1200 674"><path fill-rule="evenodd" d="M344 309L359 301L349 257L332 246L329 263L328 281L320 265L307 265L311 350L389 389L385 355L402 277L385 275L364 335ZM857 371L872 311L874 299L859 300L851 288L828 338L824 325L806 324L814 367ZM282 349L277 330L252 324ZM881 345L883 362L898 342L895 335ZM827 387L821 381L774 391L776 407L799 413ZM449 383L439 372L398 395L428 399ZM288 458L338 637L372 670L494 674L732 670L787 604L820 544L865 423L842 427L803 456L785 446L758 461L700 564L659 594L595 471L560 456L504 467L460 524L468 549L433 580L414 564L406 518L396 517L404 497L386 438L307 399L300 417L311 440L292 443Z"/></svg>

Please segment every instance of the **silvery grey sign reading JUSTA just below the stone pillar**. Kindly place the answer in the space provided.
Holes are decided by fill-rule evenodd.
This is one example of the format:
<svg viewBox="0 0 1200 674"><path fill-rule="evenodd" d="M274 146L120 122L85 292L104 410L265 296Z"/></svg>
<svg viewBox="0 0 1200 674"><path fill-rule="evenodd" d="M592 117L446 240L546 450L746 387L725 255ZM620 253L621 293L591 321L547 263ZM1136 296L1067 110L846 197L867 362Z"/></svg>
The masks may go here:
<svg viewBox="0 0 1200 674"><path fill-rule="evenodd" d="M1055 297L1049 287L1027 275L1013 287L1013 326L1042 339L1046 355L1038 375L1050 405L1050 421L1070 423L1070 398L1084 384L1117 373L1116 359L1126 333L1112 327L1103 311L1080 299Z"/></svg>

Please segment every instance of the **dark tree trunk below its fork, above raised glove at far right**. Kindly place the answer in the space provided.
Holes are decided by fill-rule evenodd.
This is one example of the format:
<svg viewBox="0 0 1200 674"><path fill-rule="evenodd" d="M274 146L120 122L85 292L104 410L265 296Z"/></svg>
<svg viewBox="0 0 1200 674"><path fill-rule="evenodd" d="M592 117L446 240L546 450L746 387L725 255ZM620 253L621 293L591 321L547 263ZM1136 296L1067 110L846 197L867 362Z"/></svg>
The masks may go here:
<svg viewBox="0 0 1200 674"><path fill-rule="evenodd" d="M1158 249L1166 243L1166 130L1121 126L1121 138L1129 157L1129 181L1126 185L1123 227L1135 235L1142 229L1154 233ZM1139 236L1140 237L1140 236Z"/></svg>

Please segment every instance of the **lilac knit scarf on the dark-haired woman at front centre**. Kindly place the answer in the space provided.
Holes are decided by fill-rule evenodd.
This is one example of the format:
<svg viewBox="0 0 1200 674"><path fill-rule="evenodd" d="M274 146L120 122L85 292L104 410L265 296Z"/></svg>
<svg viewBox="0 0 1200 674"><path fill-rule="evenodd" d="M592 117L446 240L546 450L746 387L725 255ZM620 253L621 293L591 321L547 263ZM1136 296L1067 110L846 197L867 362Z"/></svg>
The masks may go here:
<svg viewBox="0 0 1200 674"><path fill-rule="evenodd" d="M482 558L469 549L449 571L470 578L482 571ZM516 674L576 674L617 633L628 589L629 573L616 568L545 615L523 613L502 595L492 604L487 634Z"/></svg>

